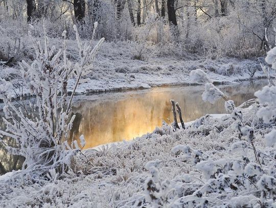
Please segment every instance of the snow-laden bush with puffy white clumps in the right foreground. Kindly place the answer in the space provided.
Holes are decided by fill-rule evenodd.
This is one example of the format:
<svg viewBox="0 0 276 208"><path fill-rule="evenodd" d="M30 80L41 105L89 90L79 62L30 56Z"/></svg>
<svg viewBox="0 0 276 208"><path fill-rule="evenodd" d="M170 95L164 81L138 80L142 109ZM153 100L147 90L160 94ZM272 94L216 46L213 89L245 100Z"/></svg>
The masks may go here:
<svg viewBox="0 0 276 208"><path fill-rule="evenodd" d="M194 189L188 195L177 200L173 199L173 205L175 207L195 207L196 204L196 207L209 207L212 204L219 207L249 207L259 201L260 206L256 207L273 207L275 205L276 184L275 159L273 156L275 149L273 148L266 153L256 148L254 143L256 142L256 136L260 137L259 129L254 129L252 121L250 122L250 120L243 117L244 110L235 107L232 100L227 100L203 71L195 70L190 75L193 81L205 83L202 99L211 103L214 103L220 97L225 100L225 110L231 113L231 118L234 121L229 128L238 132L238 136L235 139L232 138L236 142L228 142L229 156L227 157L223 155L216 157L213 154L206 154L187 145L178 145L172 148L172 153L175 154L176 158L185 156L186 163L193 167L194 172L191 173L198 175L198 177L195 177L196 183L201 183L197 189ZM268 127L274 126L275 123L274 94L273 86L266 86L256 93L260 106L257 115L254 116L263 118L264 122L270 124ZM252 109L253 107L250 106L246 111ZM191 126L182 131L204 125L201 123L199 126ZM265 135L266 143L270 146L273 145L276 142L275 136L275 129L273 129ZM185 174L183 178L190 177L191 173ZM244 198L238 198L239 195L250 196L250 201L244 202ZM232 200L236 200L235 203Z"/></svg>

